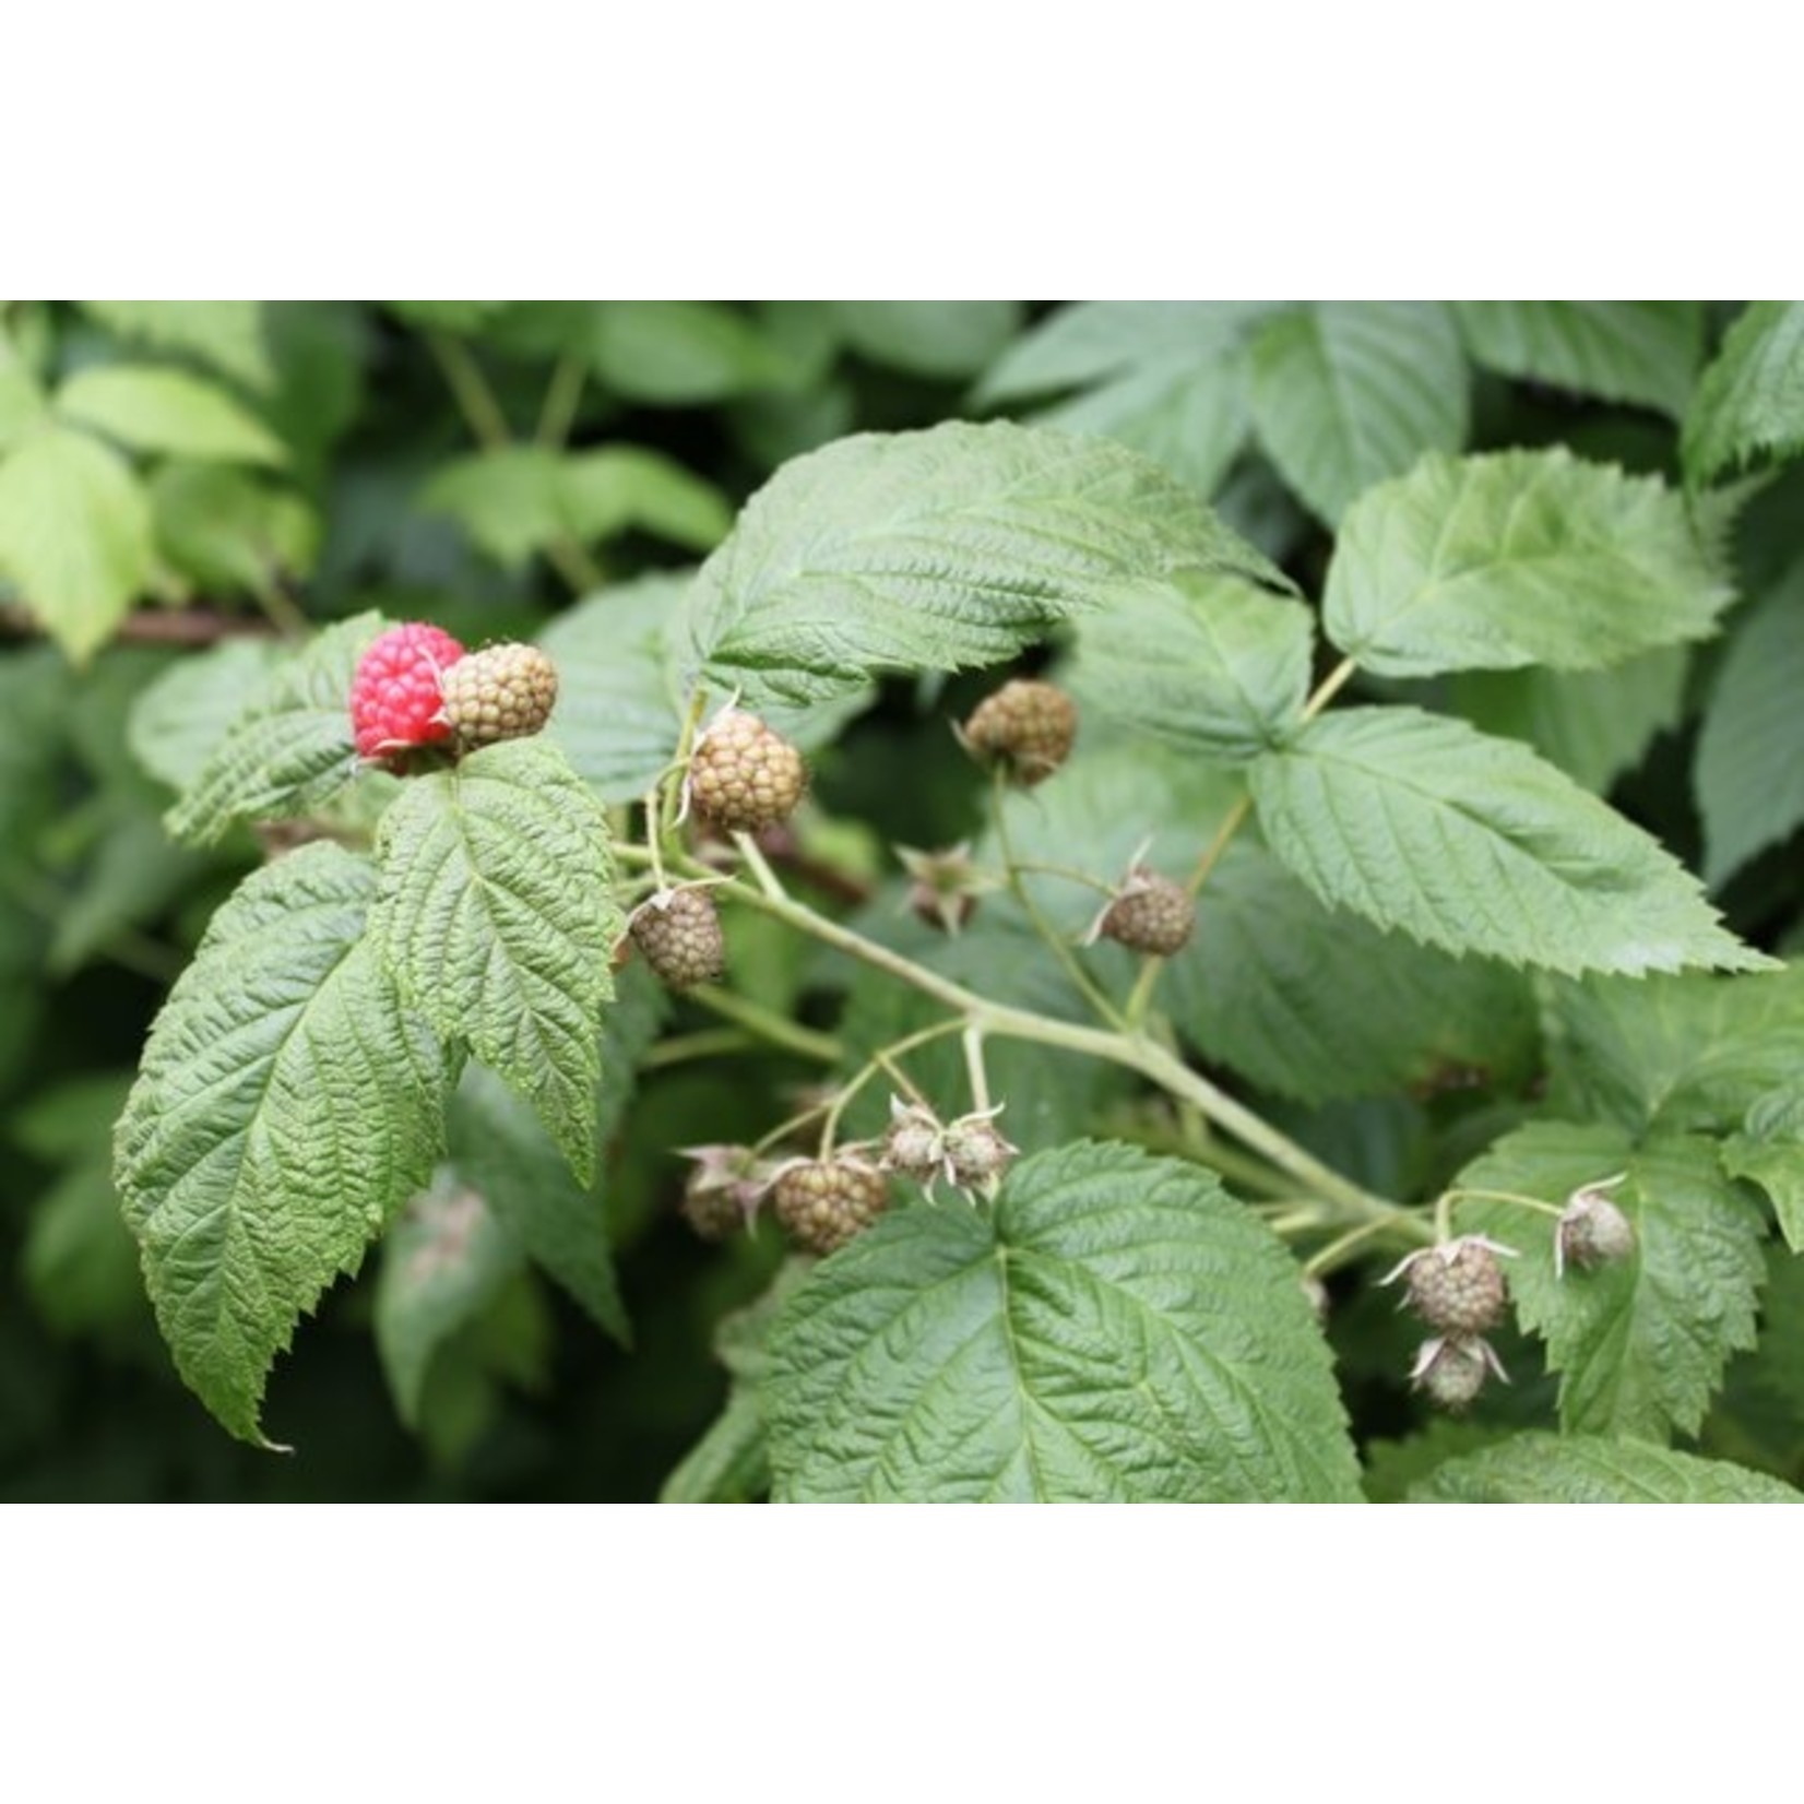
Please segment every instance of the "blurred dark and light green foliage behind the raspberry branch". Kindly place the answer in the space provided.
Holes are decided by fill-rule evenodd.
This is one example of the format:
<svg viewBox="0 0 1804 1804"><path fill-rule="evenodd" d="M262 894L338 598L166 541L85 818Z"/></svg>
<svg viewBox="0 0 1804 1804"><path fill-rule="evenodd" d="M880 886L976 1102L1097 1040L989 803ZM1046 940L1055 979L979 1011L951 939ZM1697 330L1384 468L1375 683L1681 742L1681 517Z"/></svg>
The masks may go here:
<svg viewBox="0 0 1804 1804"><path fill-rule="evenodd" d="M689 1236L669 1149L754 1138L815 1070L770 1050L689 1059L720 1023L686 1005L621 1099L597 1180L630 1351L447 1178L278 1366L269 1422L299 1456L229 1441L180 1387L117 1216L110 1129L168 985L265 855L249 833L179 848L161 815L276 635L373 606L465 642L543 633L597 666L613 619L655 628L658 595L778 464L949 417L1118 437L1319 594L1335 520L1423 451L1560 442L1676 480L1680 422L1734 318L1707 303L0 303L0 1497L653 1497L718 1414L727 1367L745 1369L734 1312L781 1263L769 1230L723 1248ZM1705 871L1739 933L1791 953L1800 500L1799 464L1699 494L1743 592L1721 640L1427 696L1607 792ZM613 601L579 610L621 584L615 617ZM987 686L886 686L823 747L792 857L805 889L893 918L886 848L976 828L976 779L943 722ZM850 972L763 920L734 934L740 989L797 1019L837 1016ZM655 1003L639 1001L648 1043ZM862 985L851 1003L848 1034L893 999ZM1117 1090L1061 1108L1156 1140ZM1380 1187L1508 1124L1452 1077L1312 1109L1261 1100ZM1797 1290L1791 1265L1775 1286L1770 1306ZM1333 1328L1369 1443L1414 1422L1389 1312L1349 1297ZM1705 1445L1797 1479L1804 1362L1784 1355L1770 1333L1732 1367ZM1544 1402L1535 1382L1515 1396ZM1382 1452L1373 1488L1400 1492L1411 1461L1470 1432Z"/></svg>

